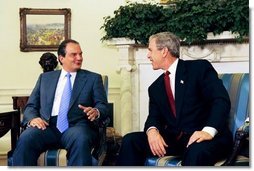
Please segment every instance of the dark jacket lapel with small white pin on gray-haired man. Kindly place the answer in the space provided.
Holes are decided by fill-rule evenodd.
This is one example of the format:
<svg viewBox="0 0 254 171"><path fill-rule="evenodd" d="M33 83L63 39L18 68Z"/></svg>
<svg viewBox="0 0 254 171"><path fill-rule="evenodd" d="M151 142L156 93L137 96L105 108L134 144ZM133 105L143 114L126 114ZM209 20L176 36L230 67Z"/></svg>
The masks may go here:
<svg viewBox="0 0 254 171"><path fill-rule="evenodd" d="M180 117L186 87L186 75L184 61L179 59L175 78L175 104L176 117Z"/></svg>

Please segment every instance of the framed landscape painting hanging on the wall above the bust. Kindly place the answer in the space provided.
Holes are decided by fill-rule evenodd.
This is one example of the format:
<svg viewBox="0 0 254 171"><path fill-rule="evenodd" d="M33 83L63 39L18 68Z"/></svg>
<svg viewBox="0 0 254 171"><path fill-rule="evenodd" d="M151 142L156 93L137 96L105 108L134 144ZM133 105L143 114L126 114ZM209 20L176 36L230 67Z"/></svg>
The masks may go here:
<svg viewBox="0 0 254 171"><path fill-rule="evenodd" d="M71 10L20 8L20 50L56 51L71 37Z"/></svg>

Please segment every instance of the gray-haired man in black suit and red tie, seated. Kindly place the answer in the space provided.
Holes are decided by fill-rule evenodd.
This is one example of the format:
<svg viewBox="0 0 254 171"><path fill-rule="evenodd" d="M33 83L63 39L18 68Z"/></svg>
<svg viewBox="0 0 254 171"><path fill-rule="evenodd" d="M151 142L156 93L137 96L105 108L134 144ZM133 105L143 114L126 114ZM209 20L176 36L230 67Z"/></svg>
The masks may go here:
<svg viewBox="0 0 254 171"><path fill-rule="evenodd" d="M179 50L180 40L170 32L149 38L147 57L153 69L169 71L170 79L163 73L149 87L144 132L123 137L117 165L138 166L146 157L181 155L182 165L209 166L229 154L228 93L208 61L183 61ZM170 80L172 105L166 80Z"/></svg>

